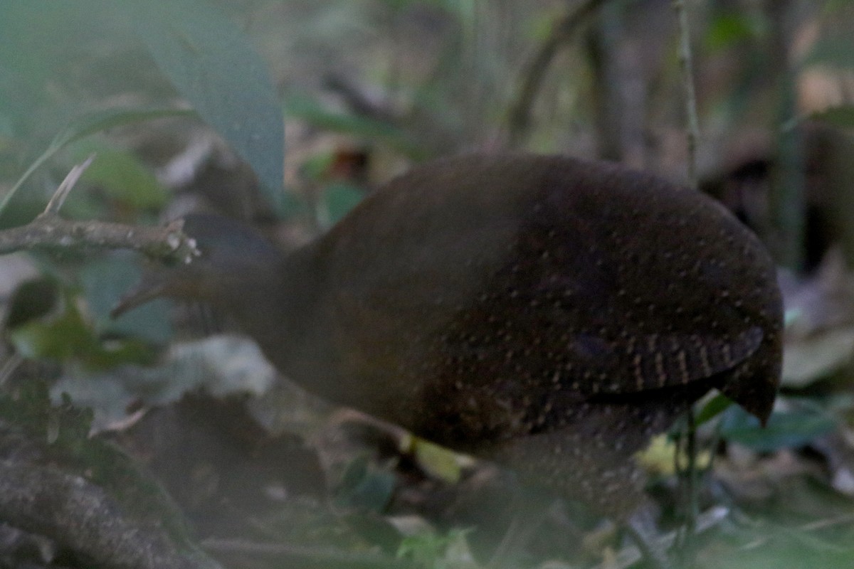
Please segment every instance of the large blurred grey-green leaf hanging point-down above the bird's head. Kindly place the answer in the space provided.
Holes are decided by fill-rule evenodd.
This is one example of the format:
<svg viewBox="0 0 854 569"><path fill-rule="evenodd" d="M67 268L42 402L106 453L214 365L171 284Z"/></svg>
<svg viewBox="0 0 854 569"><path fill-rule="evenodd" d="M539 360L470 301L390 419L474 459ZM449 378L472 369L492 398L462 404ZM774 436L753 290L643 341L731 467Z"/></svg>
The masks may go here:
<svg viewBox="0 0 854 569"><path fill-rule="evenodd" d="M161 71L281 206L284 119L266 64L249 39L201 0L143 0L134 20Z"/></svg>

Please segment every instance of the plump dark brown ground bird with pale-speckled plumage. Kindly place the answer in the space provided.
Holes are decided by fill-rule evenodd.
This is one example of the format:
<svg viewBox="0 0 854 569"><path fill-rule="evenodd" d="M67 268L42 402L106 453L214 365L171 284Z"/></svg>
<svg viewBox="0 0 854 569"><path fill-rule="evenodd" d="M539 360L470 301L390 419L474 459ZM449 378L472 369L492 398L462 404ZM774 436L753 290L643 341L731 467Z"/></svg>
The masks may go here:
<svg viewBox="0 0 854 569"><path fill-rule="evenodd" d="M234 316L308 390L626 521L632 456L711 388L766 421L781 366L775 267L717 202L557 156L421 165L282 253L193 215L202 256L160 295Z"/></svg>

